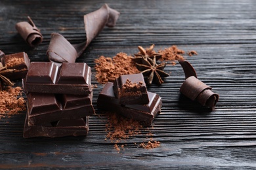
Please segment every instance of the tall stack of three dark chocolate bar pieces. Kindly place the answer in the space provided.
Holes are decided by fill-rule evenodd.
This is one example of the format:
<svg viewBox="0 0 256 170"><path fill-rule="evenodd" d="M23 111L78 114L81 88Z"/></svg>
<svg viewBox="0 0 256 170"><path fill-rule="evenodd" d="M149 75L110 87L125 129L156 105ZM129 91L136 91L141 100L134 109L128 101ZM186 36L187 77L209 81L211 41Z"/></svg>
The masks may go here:
<svg viewBox="0 0 256 170"><path fill-rule="evenodd" d="M87 135L95 110L86 63L32 62L23 85L28 96L24 137Z"/></svg>

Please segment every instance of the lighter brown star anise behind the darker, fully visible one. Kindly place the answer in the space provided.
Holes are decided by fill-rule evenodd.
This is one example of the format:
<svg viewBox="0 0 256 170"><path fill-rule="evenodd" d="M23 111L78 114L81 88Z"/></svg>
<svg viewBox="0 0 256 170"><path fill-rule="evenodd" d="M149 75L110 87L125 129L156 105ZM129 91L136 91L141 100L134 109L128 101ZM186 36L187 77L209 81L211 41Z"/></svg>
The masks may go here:
<svg viewBox="0 0 256 170"><path fill-rule="evenodd" d="M154 51L154 46L155 46L155 44L152 44L150 46L150 48L148 48L146 50L142 46L138 46L138 49L140 52L137 54L134 54L135 57L132 58L133 61L135 61L136 63L142 63L143 58L145 58L145 59L156 58L156 60L160 59L161 54Z"/></svg>

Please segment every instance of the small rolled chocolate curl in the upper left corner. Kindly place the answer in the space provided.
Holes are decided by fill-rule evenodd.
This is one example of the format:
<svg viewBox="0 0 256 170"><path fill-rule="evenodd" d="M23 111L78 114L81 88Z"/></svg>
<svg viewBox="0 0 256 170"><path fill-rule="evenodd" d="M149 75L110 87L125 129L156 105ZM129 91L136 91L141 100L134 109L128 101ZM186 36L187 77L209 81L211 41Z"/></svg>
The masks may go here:
<svg viewBox="0 0 256 170"><path fill-rule="evenodd" d="M38 46L43 41L43 35L41 35L30 16L28 16L28 22L18 22L15 28L22 38L32 47Z"/></svg>

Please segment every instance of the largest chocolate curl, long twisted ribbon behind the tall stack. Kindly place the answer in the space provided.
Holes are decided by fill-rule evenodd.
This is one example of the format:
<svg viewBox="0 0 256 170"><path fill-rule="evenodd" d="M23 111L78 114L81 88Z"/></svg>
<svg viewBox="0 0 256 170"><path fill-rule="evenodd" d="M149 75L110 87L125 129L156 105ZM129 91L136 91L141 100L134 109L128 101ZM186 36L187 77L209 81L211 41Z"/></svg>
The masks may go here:
<svg viewBox="0 0 256 170"><path fill-rule="evenodd" d="M104 4L100 9L83 16L86 33L85 42L72 45L62 35L52 33L47 56L50 61L56 63L74 63L75 59L83 53L85 48L102 31L105 25L108 27L116 25L118 17L119 12L117 10L111 9L108 5Z"/></svg>

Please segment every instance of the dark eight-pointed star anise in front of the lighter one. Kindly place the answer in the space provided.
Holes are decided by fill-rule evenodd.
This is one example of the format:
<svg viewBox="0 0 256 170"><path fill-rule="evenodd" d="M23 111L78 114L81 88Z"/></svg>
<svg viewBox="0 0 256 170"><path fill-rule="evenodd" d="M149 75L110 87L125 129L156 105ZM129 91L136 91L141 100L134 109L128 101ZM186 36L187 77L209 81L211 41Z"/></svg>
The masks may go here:
<svg viewBox="0 0 256 170"><path fill-rule="evenodd" d="M156 57L151 58L142 58L142 64L136 63L137 69L139 69L140 73L146 77L146 83L152 84L152 82L156 82L156 84L162 84L162 77L169 76L167 73L163 71L166 63L156 63Z"/></svg>

